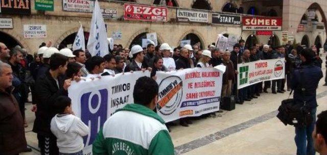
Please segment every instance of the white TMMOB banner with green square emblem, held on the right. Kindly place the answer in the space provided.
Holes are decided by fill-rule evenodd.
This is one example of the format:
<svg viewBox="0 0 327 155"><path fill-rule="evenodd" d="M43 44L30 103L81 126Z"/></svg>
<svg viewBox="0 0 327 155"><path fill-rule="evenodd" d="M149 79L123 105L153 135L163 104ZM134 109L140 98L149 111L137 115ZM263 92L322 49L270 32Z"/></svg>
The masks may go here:
<svg viewBox="0 0 327 155"><path fill-rule="evenodd" d="M237 88L241 89L263 81L285 78L285 58L259 60L237 65Z"/></svg>

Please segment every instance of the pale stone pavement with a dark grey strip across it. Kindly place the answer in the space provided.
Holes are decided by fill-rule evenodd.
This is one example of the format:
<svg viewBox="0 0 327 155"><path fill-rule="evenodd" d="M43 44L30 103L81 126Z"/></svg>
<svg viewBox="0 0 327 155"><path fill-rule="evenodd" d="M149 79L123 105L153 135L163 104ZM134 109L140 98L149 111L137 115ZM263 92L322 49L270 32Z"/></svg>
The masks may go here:
<svg viewBox="0 0 327 155"><path fill-rule="evenodd" d="M321 58L325 61L325 54ZM324 63L322 65L325 76ZM317 114L327 110L327 87L323 84L324 77L317 90ZM294 127L285 126L275 117L288 93L272 94L270 90L215 118L194 120L190 127L172 126L170 134L175 154L296 154ZM31 132L35 118L31 107L31 104L26 106L29 123L26 138L33 152L21 153L24 155L40 154L36 134Z"/></svg>

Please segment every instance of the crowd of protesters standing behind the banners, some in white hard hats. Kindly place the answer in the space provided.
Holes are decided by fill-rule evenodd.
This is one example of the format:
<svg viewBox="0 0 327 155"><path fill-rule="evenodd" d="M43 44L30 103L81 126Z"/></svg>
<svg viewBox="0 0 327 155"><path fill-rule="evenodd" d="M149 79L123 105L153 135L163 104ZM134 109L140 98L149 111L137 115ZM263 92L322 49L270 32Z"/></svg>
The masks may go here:
<svg viewBox="0 0 327 155"><path fill-rule="evenodd" d="M214 44L208 45L207 49L201 49L200 45L191 46L190 44L172 49L168 43L157 46L150 43L146 49L140 45L133 45L131 49L123 48L122 45L114 45L113 50L104 57L90 56L87 50L82 49L72 51L63 45L60 45L59 48L51 47L51 43L42 43L33 56L20 46L9 50L4 43L0 43L0 50L0 60L2 61L0 66L12 69L13 87L10 88L14 88L12 95L17 101L17 104L13 105L18 106L19 112L16 113L21 114L21 116L13 116L16 118L12 118L15 121L15 124L12 124L5 120L11 115L10 111L6 112L8 115L3 115L3 109L0 109L2 113L0 116L1 136L12 135L18 139L14 139L15 145L12 146L9 146L11 145L9 141L5 142L4 146L0 144L0 149L6 151L6 154L30 151L26 146L24 127L19 124L24 123L25 127L28 126L25 118L25 102L29 101L28 96L31 93L32 111L35 112L33 132L37 133L41 154L58 154L59 152L80 152L83 148L81 137L88 133L88 127L79 118L71 115L74 114L71 109L71 100L66 96L72 81L141 70L151 71L151 78L155 80L156 71L225 65L226 71L223 74L221 95L222 97L235 96L237 104L244 104L245 101L258 98L262 93L269 93L268 89L271 89L273 94L290 91L290 81L294 70L301 64L299 55L301 55L303 47L290 44L277 47L255 44L252 47L245 47L245 41L241 39L233 46L232 51L220 50ZM313 63L321 68L322 60L317 48L311 46L309 51L314 55ZM238 64L279 58L286 60L285 79L265 81L237 89ZM0 68L0 74L4 76L3 68ZM326 85L324 84L324 86ZM8 88L9 86L2 85L1 95L10 95L11 92L7 92ZM2 104L2 101L0 102ZM11 102L15 101L11 100ZM321 114L320 117L322 120L326 119L325 114ZM192 119L198 118L182 118L179 123L182 126L189 126L192 124ZM320 121L319 126L324 122ZM6 124L14 125L15 132L7 131ZM169 127L176 123L169 122L166 125ZM325 128L321 127L320 133L318 128L316 132L326 134ZM68 134L63 136L62 133ZM13 146L16 148L12 148Z"/></svg>

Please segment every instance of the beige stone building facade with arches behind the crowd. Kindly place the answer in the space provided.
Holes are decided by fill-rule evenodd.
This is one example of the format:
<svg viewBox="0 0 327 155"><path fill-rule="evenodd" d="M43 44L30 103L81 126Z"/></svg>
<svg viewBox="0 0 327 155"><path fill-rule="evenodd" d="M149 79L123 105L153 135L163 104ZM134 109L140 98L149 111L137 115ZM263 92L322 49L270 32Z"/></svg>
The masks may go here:
<svg viewBox="0 0 327 155"><path fill-rule="evenodd" d="M5 0L4 2L9 1ZM12 41L7 44L20 44L27 48L30 53L37 51L41 42L52 41L53 46L58 46L67 37L75 35L80 27L83 25L84 32L89 31L90 20L92 13L85 12L67 12L63 11L63 1L54 1L54 11L38 11L35 10L35 0L28 1L31 3L30 15L4 14L0 13L0 18L12 18L13 29L0 28L0 41L6 42L8 38ZM71 1L71 0L68 0ZM113 32L121 32L122 37L119 40L114 40L115 44L122 44L124 47L129 47L135 37L144 33L156 33L159 43L167 42L171 46L178 46L180 41L188 34L197 36L200 40L202 48L215 42L218 34L236 34L239 38L247 41L249 44L254 42L267 44L269 39L274 41L273 44L282 44L282 31L288 31L290 36L294 37L296 43L301 43L306 37L309 45L315 44L319 40L321 44L325 42L326 33L324 27L326 26L325 15L327 14L327 1L325 0L277 0L274 3L271 1L237 1L237 0L173 0L175 7L167 7L168 19L167 22L153 22L153 21L132 21L124 20L124 4L142 4L147 6L154 5L157 0L134 0L131 2L125 1L99 1L101 8L112 8L117 10L118 19L105 19L107 24L107 34L111 37ZM6 5L6 4L0 4ZM236 7L239 13L223 12L228 7ZM208 23L195 22L177 22L177 9L188 9L194 11L203 11L208 13ZM206 8L207 10L199 10L194 8ZM323 28L315 26L309 19L305 24L305 30L297 32L298 25L301 23L302 16L306 16L308 9L316 10L318 24L322 24ZM257 36L255 31L243 31L242 25L230 24L212 24L212 13L224 13L243 16L247 13L258 16L268 16L276 14L276 16L283 17L283 30L274 31L272 36ZM235 11L234 11L235 12ZM24 38L24 25L26 24L43 24L46 25L46 38ZM317 36L319 39L317 39ZM7 40L8 41L8 40ZM71 42L73 43L73 42Z"/></svg>

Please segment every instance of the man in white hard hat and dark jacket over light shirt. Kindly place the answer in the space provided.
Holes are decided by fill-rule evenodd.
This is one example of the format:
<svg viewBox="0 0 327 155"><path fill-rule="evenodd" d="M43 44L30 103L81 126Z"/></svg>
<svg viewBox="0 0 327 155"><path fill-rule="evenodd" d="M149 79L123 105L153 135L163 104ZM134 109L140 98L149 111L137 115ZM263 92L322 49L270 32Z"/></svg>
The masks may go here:
<svg viewBox="0 0 327 155"><path fill-rule="evenodd" d="M143 63L144 60L144 50L140 45L134 45L131 49L131 55L132 55L132 62L125 67L125 72L129 71L139 71L139 70L145 70L147 66ZM148 69L151 70L149 67Z"/></svg>

